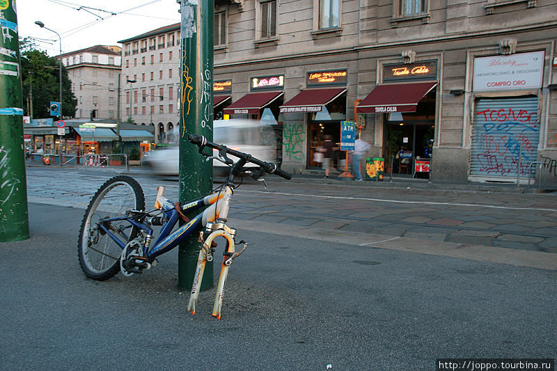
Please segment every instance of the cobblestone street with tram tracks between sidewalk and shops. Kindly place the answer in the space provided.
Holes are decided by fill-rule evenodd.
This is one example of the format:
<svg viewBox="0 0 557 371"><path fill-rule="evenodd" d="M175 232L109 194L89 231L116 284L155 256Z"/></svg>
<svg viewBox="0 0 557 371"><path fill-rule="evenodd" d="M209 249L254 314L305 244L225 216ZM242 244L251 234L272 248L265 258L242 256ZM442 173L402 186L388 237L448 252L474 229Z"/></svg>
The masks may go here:
<svg viewBox="0 0 557 371"><path fill-rule="evenodd" d="M135 177L152 205L159 185L178 200L176 178L159 178L145 168L27 167L29 202L85 208L109 177ZM522 194L517 189L464 184L427 189L416 183L374 184L269 177L235 191L230 218L344 232L557 253L557 194ZM216 183L216 186L219 184ZM450 189L453 188L453 189Z"/></svg>

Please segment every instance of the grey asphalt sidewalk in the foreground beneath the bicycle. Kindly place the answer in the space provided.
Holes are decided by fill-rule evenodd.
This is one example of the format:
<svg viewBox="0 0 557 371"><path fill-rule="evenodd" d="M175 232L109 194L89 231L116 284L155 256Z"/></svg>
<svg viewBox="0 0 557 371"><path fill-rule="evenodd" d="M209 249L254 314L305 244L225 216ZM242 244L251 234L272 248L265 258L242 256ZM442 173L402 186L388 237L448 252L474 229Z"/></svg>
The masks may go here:
<svg viewBox="0 0 557 371"><path fill-rule="evenodd" d="M3 370L434 370L436 358L555 357L556 271L242 230L254 245L230 270L217 320L214 290L186 312L175 251L142 275L85 278L82 214L31 203L31 239L1 245Z"/></svg>

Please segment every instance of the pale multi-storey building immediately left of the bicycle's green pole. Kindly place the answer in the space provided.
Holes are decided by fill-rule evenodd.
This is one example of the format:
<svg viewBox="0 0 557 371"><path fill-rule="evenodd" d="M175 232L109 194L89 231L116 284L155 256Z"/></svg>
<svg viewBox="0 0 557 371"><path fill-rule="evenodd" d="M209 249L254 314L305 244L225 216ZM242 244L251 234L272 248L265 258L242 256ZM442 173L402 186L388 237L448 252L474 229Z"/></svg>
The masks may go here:
<svg viewBox="0 0 557 371"><path fill-rule="evenodd" d="M123 121L154 125L156 143L175 143L180 87L180 24L118 41L122 51Z"/></svg>

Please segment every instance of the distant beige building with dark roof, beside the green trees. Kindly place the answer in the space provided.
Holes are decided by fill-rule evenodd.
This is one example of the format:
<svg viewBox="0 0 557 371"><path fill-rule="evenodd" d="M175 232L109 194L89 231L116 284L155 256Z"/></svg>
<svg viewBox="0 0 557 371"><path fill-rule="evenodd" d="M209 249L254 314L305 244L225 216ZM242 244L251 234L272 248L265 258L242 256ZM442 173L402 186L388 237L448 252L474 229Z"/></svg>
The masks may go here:
<svg viewBox="0 0 557 371"><path fill-rule="evenodd" d="M121 48L95 45L62 54L77 97L75 118L116 120Z"/></svg>

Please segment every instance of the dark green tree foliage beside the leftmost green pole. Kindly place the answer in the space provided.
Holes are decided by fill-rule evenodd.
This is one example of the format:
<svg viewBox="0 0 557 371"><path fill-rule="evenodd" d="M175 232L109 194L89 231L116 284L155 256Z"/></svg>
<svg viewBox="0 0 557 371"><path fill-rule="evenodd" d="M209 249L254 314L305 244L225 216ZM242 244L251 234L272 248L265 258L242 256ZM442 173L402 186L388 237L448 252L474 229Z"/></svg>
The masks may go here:
<svg viewBox="0 0 557 371"><path fill-rule="evenodd" d="M31 116L30 92L33 89L33 118L50 118L50 102L60 100L59 61L38 49L29 39L19 39L22 96L27 116ZM72 92L68 70L62 66L62 116L74 118L77 99Z"/></svg>

